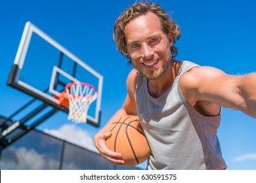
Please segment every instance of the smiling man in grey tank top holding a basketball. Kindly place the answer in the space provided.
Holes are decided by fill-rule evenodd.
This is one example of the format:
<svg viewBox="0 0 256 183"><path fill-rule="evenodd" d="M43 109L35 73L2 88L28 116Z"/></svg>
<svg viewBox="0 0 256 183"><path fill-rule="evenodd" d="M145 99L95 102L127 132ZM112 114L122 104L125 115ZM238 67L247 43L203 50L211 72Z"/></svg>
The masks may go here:
<svg viewBox="0 0 256 183"><path fill-rule="evenodd" d="M226 75L213 67L177 61L178 25L154 3L135 3L114 26L118 50L135 67L127 97L116 114L138 115L152 153L148 169L226 169L217 139L221 107L256 118L256 73ZM107 125L110 124L110 122ZM95 135L100 154L123 165L106 147L111 133Z"/></svg>

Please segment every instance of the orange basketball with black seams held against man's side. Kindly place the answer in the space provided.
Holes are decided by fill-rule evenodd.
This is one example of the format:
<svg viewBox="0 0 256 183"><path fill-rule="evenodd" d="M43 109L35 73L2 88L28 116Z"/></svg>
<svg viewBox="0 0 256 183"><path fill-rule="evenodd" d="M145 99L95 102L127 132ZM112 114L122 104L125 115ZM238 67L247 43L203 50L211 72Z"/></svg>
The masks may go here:
<svg viewBox="0 0 256 183"><path fill-rule="evenodd" d="M112 122L108 131L112 135L106 139L106 146L122 155L125 165L134 166L150 156L150 147L137 116L123 116Z"/></svg>

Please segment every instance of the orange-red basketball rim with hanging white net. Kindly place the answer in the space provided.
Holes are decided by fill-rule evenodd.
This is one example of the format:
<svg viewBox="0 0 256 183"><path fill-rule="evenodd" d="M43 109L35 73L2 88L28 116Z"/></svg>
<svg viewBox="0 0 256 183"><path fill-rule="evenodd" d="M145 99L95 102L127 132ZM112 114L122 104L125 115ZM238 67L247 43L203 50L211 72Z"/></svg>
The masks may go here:
<svg viewBox="0 0 256 183"><path fill-rule="evenodd" d="M87 122L88 109L98 97L97 89L84 82L71 82L65 86L64 95L69 103L68 120L75 123Z"/></svg>

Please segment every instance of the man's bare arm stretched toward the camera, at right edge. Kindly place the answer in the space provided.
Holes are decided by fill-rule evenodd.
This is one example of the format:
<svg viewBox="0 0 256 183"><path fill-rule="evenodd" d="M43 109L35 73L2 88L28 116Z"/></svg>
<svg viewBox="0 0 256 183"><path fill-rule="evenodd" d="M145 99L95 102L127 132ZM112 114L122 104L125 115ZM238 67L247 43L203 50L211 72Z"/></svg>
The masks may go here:
<svg viewBox="0 0 256 183"><path fill-rule="evenodd" d="M256 118L256 73L236 76L213 67L195 67L181 76L179 84L193 107L208 101Z"/></svg>

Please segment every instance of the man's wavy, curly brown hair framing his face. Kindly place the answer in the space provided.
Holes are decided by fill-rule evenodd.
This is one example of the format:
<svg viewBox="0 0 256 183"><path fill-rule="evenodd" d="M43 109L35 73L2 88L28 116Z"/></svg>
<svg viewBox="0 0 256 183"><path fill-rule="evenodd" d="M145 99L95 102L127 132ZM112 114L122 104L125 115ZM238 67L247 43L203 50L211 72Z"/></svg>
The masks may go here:
<svg viewBox="0 0 256 183"><path fill-rule="evenodd" d="M117 43L117 51L123 54L125 58L130 58L127 52L127 42L125 36L125 26L134 18L138 16L145 15L148 12L153 12L160 19L163 32L168 35L171 33L173 36L173 43L175 43L180 38L179 26L167 15L167 13L156 3L135 3L131 7L127 8L120 16L117 18L114 29L113 38ZM178 50L175 46L171 48L172 58L175 58L178 54ZM131 61L130 61L131 63Z"/></svg>

